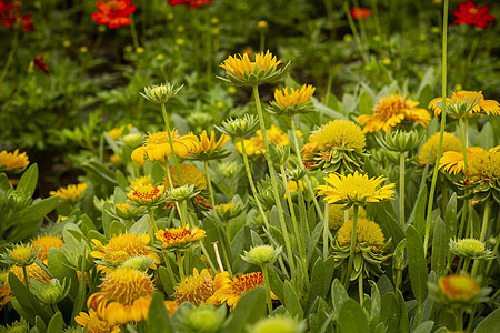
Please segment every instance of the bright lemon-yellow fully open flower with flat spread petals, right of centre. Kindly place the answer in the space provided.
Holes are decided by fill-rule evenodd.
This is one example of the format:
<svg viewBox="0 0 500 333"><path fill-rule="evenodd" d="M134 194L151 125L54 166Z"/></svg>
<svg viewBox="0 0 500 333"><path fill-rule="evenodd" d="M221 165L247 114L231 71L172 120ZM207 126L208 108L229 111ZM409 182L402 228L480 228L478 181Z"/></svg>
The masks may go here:
<svg viewBox="0 0 500 333"><path fill-rule="evenodd" d="M331 185L319 185L318 195L326 195L328 203L343 203L347 206L352 204L364 205L367 203L379 202L393 199L394 184L380 186L387 178L380 175L369 179L367 174L354 172L348 175L329 174L324 180Z"/></svg>

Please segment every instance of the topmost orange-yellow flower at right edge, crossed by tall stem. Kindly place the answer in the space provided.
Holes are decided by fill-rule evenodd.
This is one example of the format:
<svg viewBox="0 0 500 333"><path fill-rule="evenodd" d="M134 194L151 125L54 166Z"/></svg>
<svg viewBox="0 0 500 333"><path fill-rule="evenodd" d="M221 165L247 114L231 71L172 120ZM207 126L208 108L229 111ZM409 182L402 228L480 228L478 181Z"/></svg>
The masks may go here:
<svg viewBox="0 0 500 333"><path fill-rule="evenodd" d="M464 103L469 101L469 105L473 105L469 110L468 115L472 117L474 113L500 114L500 104L494 100L484 100L482 91L467 91L461 90L453 92L451 98L447 98L447 105L454 103ZM429 109L434 111L434 115L438 117L441 113L441 108L437 104L442 102L442 98L437 98L430 101ZM474 105L476 102L476 105Z"/></svg>

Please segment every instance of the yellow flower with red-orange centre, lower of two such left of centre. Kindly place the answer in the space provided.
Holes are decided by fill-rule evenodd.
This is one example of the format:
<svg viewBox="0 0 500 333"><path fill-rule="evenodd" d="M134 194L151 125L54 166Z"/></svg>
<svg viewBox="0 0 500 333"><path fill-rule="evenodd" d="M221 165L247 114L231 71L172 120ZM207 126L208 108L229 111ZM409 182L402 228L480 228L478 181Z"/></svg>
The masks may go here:
<svg viewBox="0 0 500 333"><path fill-rule="evenodd" d="M198 245L197 241L204 239L207 234L202 229L193 228L190 230L188 224L186 226L159 230L154 235L164 250L186 251L191 246Z"/></svg>

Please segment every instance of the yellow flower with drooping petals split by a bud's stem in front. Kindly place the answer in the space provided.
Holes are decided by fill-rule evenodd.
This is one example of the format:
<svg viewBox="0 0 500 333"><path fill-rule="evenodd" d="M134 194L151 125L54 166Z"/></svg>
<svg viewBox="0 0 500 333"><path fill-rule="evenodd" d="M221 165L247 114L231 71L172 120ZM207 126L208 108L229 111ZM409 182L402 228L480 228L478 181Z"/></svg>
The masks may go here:
<svg viewBox="0 0 500 333"><path fill-rule="evenodd" d="M173 152L181 158L188 158L190 153L197 153L200 150L198 137L189 133L181 137L177 131L171 132ZM149 134L142 147L136 148L132 152L132 161L144 164L146 159L150 161L163 160L170 157L169 135L167 132L157 132Z"/></svg>

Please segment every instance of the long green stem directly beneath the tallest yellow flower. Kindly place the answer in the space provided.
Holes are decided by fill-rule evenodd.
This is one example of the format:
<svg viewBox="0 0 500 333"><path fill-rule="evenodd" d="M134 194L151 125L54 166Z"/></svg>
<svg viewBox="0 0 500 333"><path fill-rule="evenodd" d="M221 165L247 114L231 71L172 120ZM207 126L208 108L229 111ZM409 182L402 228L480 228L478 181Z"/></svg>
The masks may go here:
<svg viewBox="0 0 500 333"><path fill-rule="evenodd" d="M260 104L260 98L259 98L259 85L253 85L253 97L256 99L257 113L259 115L260 130L262 132L262 140L263 140L264 149L266 149L266 160L268 161L269 174L271 175L271 184L272 184L272 192L274 194L276 208L278 209L278 218L280 220L281 232L283 233L284 246L287 248L287 255L288 255L289 263L290 263L290 272L292 275L292 281L294 282L296 281L294 278L297 276L296 275L296 262L294 262L293 252L292 252L291 245L290 245L290 236L289 236L288 230L287 230L287 222L284 221L283 209L281 206L281 199L280 199L279 192L278 192L278 184L277 184L277 180L276 180L276 175L274 175L274 167L272 164L271 158L269 157L269 152L271 150L269 149L268 137L266 134L266 124L263 121L262 107Z"/></svg>

